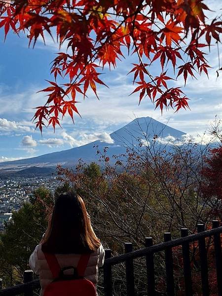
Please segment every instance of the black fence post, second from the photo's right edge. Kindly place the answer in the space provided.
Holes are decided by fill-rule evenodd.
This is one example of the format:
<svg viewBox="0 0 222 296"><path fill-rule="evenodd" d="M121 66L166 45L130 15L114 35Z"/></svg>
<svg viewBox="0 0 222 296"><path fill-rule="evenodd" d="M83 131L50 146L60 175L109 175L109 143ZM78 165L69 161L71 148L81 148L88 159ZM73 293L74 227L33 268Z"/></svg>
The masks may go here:
<svg viewBox="0 0 222 296"><path fill-rule="evenodd" d="M197 232L204 231L204 224L197 224ZM208 280L208 264L207 264L207 250L205 237L198 240L200 253L200 268L201 268L201 282L203 296L210 296L209 280Z"/></svg>

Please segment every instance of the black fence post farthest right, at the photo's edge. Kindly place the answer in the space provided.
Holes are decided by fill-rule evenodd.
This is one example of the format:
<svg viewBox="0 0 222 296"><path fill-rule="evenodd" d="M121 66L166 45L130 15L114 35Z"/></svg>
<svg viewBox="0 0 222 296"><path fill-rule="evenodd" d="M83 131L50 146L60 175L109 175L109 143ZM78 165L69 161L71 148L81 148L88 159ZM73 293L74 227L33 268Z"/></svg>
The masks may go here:
<svg viewBox="0 0 222 296"><path fill-rule="evenodd" d="M218 228L220 222L217 220L212 221L213 228ZM217 282L218 282L218 296L222 296L222 256L221 256L221 233L214 234L214 250L215 261L217 269Z"/></svg>

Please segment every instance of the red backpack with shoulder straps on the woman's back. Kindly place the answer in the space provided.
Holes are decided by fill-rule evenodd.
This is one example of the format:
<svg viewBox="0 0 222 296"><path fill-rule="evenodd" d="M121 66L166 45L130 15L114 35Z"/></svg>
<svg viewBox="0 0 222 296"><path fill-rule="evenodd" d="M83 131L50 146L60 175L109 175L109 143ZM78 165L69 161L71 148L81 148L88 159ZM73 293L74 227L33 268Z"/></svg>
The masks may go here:
<svg viewBox="0 0 222 296"><path fill-rule="evenodd" d="M68 266L62 269L54 254L44 255L54 278L46 287L44 296L96 296L94 284L83 277L90 255L81 255L77 267ZM64 274L68 269L73 269L74 273Z"/></svg>

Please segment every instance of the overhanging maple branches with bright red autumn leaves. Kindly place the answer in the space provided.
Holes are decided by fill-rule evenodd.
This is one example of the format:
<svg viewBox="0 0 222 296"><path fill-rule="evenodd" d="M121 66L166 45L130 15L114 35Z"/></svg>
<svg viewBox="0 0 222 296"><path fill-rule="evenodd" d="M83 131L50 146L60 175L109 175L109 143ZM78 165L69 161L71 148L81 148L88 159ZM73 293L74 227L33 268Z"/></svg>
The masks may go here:
<svg viewBox="0 0 222 296"><path fill-rule="evenodd" d="M51 67L54 81L43 89L48 93L44 106L37 107L36 126L60 125L59 116L68 113L74 119L76 94L87 95L91 88L97 95L97 84L106 65L115 67L127 49L136 56L130 73L140 93L161 111L165 107L188 108L188 98L180 87L169 81L196 73L208 74L210 65L204 48L220 42L220 17L208 20L210 10L204 0L1 0L0 27L5 37L11 29L24 33L35 46L46 34L56 37L67 52L57 53ZM150 66L157 63L161 73L154 75ZM100 66L101 65L101 66ZM167 75L167 66L174 77ZM155 67L154 67L155 68ZM221 69L220 69L221 70ZM64 79L63 84L58 77Z"/></svg>

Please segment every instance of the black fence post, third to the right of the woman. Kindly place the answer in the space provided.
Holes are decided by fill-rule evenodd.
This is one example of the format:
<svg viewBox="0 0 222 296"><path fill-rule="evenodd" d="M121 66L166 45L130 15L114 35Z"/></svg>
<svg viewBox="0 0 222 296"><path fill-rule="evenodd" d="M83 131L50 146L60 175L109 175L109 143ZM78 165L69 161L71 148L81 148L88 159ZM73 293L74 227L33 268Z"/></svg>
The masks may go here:
<svg viewBox="0 0 222 296"><path fill-rule="evenodd" d="M145 238L145 246L151 247L153 245L153 241L151 237ZM146 256L146 264L147 264L147 290L148 296L155 295L155 273L154 273L154 259L153 253L148 254Z"/></svg>

